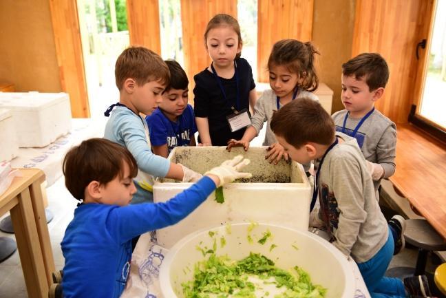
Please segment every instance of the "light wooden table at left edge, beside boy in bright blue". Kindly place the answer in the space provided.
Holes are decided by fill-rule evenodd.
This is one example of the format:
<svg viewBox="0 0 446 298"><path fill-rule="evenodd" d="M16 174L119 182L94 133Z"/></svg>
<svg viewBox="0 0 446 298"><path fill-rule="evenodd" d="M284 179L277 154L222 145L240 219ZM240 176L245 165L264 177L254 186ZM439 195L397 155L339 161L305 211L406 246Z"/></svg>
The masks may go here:
<svg viewBox="0 0 446 298"><path fill-rule="evenodd" d="M9 189L0 196L0 216L10 211L28 297L46 298L52 284L54 259L43 209L39 169L20 169Z"/></svg>

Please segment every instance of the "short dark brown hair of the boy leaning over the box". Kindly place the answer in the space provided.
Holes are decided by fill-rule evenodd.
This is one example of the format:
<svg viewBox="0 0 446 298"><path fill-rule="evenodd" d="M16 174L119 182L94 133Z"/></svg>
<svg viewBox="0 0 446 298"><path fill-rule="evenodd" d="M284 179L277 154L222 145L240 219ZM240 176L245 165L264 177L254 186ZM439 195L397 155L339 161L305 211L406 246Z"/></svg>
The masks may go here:
<svg viewBox="0 0 446 298"><path fill-rule="evenodd" d="M334 140L332 118L319 102L310 98L297 98L275 111L270 127L295 148L308 142L330 145Z"/></svg>

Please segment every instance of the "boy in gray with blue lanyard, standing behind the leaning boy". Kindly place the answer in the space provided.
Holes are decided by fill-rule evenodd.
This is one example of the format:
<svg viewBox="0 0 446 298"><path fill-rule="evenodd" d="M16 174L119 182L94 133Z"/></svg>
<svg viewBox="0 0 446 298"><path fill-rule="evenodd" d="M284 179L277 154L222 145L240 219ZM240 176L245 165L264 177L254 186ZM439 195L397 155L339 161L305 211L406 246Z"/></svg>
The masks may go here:
<svg viewBox="0 0 446 298"><path fill-rule="evenodd" d="M357 140L367 160L377 200L381 179L395 173L396 125L374 108L388 79L389 68L380 54L363 53L343 63L341 100L346 109L332 115L336 130ZM395 215L389 224L396 255L405 245L405 221Z"/></svg>

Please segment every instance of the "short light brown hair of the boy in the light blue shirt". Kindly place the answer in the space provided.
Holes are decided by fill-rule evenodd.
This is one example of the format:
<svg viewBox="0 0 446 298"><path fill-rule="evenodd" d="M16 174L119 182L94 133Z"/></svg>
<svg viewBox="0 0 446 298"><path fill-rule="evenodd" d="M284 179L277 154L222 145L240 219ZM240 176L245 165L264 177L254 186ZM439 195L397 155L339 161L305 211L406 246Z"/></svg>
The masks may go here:
<svg viewBox="0 0 446 298"><path fill-rule="evenodd" d="M116 60L116 87L122 89L127 78L133 78L138 85L150 81L160 81L163 85L169 85L170 72L156 52L146 47L127 47Z"/></svg>

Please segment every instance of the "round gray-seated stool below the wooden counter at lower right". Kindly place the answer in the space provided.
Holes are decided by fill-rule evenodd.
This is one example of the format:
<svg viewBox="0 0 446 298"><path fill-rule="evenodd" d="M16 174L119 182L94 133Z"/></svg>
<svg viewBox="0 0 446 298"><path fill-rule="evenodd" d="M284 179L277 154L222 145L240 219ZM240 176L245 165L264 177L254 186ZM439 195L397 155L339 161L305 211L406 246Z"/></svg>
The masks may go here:
<svg viewBox="0 0 446 298"><path fill-rule="evenodd" d="M418 248L414 275L424 275L429 251L446 251L446 240L427 220L406 220L404 239Z"/></svg>

